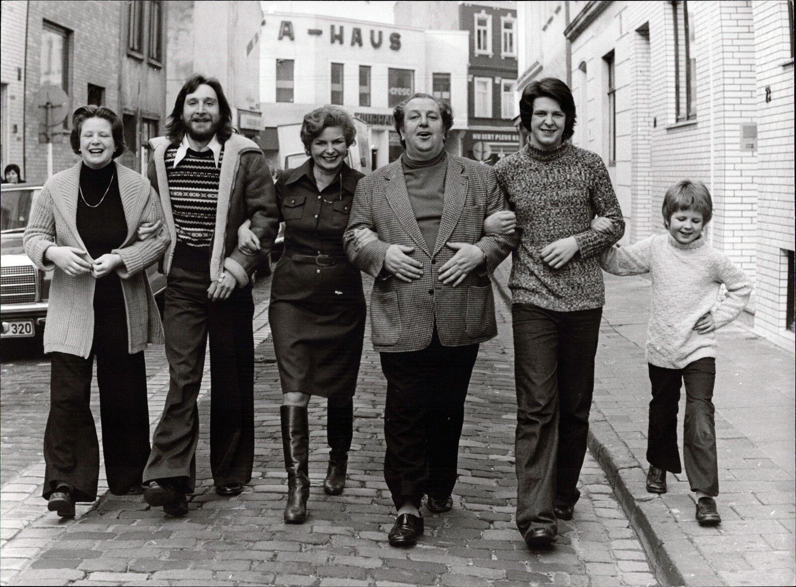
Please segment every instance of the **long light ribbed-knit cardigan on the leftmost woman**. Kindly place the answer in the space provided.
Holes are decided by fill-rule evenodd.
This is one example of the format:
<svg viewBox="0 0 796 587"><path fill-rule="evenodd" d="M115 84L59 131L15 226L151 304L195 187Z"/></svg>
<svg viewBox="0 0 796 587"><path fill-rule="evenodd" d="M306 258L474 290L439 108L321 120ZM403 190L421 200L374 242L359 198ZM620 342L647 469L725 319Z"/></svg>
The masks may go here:
<svg viewBox="0 0 796 587"><path fill-rule="evenodd" d="M25 253L39 269L56 269L47 308L45 352L68 352L85 359L91 354L94 339L96 279L91 273L74 277L65 274L44 256L45 251L53 245L86 250L76 225L80 165L82 161L56 173L45 183L33 200L23 242ZM146 177L119 162L115 165L127 220L127 238L121 247L111 252L122 258L116 273L121 278L127 309L128 351L133 354L144 350L147 343L163 342L158 306L144 269L162 257L169 244L169 235L166 231L160 231L152 239L137 239L136 230L142 222L162 220L160 200ZM92 261L88 256L86 259Z"/></svg>

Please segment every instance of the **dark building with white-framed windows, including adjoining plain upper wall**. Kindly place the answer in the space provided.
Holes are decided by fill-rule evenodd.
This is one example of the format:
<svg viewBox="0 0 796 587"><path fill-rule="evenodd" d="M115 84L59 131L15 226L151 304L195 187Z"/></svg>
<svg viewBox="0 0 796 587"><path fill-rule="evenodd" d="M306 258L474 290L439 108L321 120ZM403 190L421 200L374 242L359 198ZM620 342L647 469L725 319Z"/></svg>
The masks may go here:
<svg viewBox="0 0 796 587"><path fill-rule="evenodd" d="M517 2L396 2L393 11L401 24L469 34L462 154L494 165L516 151Z"/></svg>

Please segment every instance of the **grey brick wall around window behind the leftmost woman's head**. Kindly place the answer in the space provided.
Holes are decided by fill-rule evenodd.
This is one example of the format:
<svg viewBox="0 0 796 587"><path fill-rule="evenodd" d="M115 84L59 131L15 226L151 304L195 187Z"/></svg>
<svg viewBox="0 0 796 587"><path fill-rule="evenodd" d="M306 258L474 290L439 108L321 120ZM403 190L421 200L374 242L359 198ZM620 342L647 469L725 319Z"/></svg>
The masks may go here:
<svg viewBox="0 0 796 587"><path fill-rule="evenodd" d="M60 2L40 0L29 2L25 100L26 179L42 183L47 176L47 146L39 142L38 119L33 101L40 84L41 31L44 21L69 32L68 114L87 100L88 84L105 88L105 104L119 113L119 10L124 2L83 0ZM5 19L5 2L3 18ZM5 60L5 56L3 57ZM53 173L80 161L69 146L69 135L60 135L53 144Z"/></svg>

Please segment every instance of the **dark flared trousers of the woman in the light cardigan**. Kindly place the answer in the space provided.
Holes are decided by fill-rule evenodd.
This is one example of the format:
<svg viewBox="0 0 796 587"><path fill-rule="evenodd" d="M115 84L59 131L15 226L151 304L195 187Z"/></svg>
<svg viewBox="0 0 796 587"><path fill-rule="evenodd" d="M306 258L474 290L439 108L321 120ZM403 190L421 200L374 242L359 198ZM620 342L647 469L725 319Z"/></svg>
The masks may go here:
<svg viewBox="0 0 796 587"><path fill-rule="evenodd" d="M96 357L105 473L111 493L140 485L149 457L149 409L144 353L129 354L127 313L122 305L94 309L94 342L88 359L53 352L50 410L45 429L45 499L57 482L74 489L76 501L94 501L100 445L90 406Z"/></svg>

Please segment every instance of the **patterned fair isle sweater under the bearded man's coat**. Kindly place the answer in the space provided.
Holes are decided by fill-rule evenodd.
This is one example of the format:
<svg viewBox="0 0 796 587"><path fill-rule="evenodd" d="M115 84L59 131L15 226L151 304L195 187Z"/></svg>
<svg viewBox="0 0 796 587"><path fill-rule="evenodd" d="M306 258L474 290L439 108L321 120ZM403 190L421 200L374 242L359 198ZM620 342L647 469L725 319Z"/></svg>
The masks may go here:
<svg viewBox="0 0 796 587"><path fill-rule="evenodd" d="M178 146L166 150L166 177L169 196L177 229L177 242L189 247L209 249L216 228L218 180L224 150L218 157L218 167L213 151L189 149L174 167L174 154Z"/></svg>

